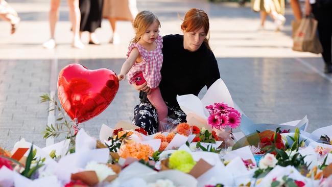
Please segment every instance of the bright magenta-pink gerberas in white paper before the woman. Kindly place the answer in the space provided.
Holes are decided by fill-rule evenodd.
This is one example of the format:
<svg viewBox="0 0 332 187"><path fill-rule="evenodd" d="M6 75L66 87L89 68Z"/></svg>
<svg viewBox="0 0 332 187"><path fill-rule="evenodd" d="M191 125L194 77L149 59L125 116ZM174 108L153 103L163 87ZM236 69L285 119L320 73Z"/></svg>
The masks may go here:
<svg viewBox="0 0 332 187"><path fill-rule="evenodd" d="M215 103L205 107L210 115L207 119L207 123L216 129L225 129L227 126L230 128L236 128L240 126L241 114L238 110L229 107L225 103Z"/></svg>

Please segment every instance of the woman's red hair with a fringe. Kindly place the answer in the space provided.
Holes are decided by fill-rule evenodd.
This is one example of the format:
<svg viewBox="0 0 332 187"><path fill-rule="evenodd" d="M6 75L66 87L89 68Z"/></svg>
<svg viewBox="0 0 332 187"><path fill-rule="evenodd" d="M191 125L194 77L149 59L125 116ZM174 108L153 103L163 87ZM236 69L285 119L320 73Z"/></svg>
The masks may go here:
<svg viewBox="0 0 332 187"><path fill-rule="evenodd" d="M181 25L181 29L184 32L192 32L192 31L196 31L200 28L204 28L204 32L205 32L205 39L203 41L203 43L206 45L206 47L208 49L210 49L209 43L208 43L208 32L210 29L210 24L209 24L209 18L207 16L207 14L200 9L190 9L188 10L187 13L185 13L182 25Z"/></svg>

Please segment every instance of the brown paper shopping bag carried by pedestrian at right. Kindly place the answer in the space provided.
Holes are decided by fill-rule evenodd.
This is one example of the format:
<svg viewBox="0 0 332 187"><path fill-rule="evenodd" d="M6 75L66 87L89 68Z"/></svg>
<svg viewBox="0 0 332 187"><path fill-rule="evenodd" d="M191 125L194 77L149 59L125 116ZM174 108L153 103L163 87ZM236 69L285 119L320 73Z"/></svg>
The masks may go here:
<svg viewBox="0 0 332 187"><path fill-rule="evenodd" d="M317 36L318 22L314 18L301 19L300 25L295 30L293 50L301 52L322 53L323 48ZM296 24L294 24L296 27Z"/></svg>

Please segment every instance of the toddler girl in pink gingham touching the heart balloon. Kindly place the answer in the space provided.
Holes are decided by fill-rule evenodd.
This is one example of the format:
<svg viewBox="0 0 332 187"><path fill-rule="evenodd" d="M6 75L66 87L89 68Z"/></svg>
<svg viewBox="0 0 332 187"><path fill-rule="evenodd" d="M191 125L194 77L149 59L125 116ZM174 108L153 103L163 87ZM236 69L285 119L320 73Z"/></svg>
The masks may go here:
<svg viewBox="0 0 332 187"><path fill-rule="evenodd" d="M128 58L117 77L121 81L127 75L129 83L135 82L137 85L146 80L151 89L147 97L157 110L159 130L161 130L160 123L167 118L168 108L158 87L162 65L162 37L158 34L159 27L160 22L152 12L141 11L137 14L133 22L136 36L131 40Z"/></svg>

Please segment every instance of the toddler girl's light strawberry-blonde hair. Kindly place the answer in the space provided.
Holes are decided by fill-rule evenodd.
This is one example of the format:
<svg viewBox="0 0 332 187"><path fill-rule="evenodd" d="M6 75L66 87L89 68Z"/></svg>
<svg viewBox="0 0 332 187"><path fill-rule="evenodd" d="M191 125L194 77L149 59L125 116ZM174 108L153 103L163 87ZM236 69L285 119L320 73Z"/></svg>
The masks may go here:
<svg viewBox="0 0 332 187"><path fill-rule="evenodd" d="M160 28L160 21L152 12L148 10L139 12L133 22L133 28L135 29L136 35L130 42L137 43L140 37L145 33L148 27L153 24L154 21L157 21Z"/></svg>

